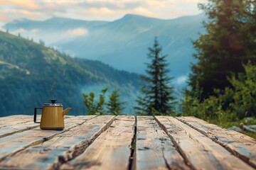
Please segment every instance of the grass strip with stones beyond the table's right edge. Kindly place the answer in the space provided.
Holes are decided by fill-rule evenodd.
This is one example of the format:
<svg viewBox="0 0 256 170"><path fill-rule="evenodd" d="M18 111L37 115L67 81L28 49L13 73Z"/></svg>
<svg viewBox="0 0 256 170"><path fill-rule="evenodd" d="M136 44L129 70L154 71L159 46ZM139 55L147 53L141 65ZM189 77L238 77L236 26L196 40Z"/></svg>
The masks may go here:
<svg viewBox="0 0 256 170"><path fill-rule="evenodd" d="M223 128L230 128L232 126L238 126L239 127L240 123L243 123L244 125L256 125L256 118L244 118L242 120L236 120L236 121L216 121L216 120L212 120L212 121L210 121L210 123L221 126ZM245 132L245 131L242 131L241 133L256 139L256 133Z"/></svg>

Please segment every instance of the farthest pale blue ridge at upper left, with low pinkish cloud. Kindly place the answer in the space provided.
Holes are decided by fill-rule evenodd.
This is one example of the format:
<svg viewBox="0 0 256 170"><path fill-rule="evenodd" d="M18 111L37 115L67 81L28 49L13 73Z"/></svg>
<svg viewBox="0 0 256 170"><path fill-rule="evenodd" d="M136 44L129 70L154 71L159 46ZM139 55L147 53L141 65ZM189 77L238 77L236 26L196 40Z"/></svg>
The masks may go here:
<svg viewBox="0 0 256 170"><path fill-rule="evenodd" d="M74 30L87 30L105 23L107 21L82 21L61 17L49 18L46 21L33 21L23 18L6 23L4 28L16 35L20 33L24 38L33 38L36 41L43 40L46 44L49 44L79 36L80 34L68 35Z"/></svg>

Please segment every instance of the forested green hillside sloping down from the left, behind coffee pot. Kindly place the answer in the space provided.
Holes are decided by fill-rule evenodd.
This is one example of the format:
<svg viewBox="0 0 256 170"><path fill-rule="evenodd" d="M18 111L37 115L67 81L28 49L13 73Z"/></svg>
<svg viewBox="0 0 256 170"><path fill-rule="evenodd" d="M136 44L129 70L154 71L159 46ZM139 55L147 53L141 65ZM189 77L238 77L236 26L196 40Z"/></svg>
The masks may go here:
<svg viewBox="0 0 256 170"><path fill-rule="evenodd" d="M115 87L130 98L138 86L137 74L0 32L0 116L33 114L34 107L50 98L72 107L70 114L80 115L86 112L82 92Z"/></svg>

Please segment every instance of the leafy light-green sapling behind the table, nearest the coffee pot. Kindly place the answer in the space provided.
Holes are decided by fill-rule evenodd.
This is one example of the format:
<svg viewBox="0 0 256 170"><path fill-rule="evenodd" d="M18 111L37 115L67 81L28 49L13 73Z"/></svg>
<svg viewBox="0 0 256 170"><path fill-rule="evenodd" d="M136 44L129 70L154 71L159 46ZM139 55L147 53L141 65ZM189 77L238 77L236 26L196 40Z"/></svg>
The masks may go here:
<svg viewBox="0 0 256 170"><path fill-rule="evenodd" d="M95 103L95 94L90 92L89 95L82 94L84 97L84 104L87 108L87 115L105 115L104 111L104 103L105 103L105 93L107 92L106 89L102 89L101 94L99 96L99 101Z"/></svg>

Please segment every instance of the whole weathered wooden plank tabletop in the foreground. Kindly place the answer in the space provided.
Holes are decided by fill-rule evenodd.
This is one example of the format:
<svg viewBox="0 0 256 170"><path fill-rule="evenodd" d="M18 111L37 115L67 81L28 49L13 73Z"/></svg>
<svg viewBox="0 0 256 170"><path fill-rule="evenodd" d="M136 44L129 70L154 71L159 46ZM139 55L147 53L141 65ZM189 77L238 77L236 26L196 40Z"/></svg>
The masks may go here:
<svg viewBox="0 0 256 170"><path fill-rule="evenodd" d="M256 140L194 117L0 118L0 169L256 169Z"/></svg>

